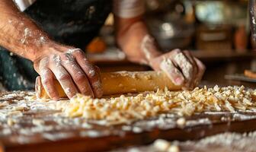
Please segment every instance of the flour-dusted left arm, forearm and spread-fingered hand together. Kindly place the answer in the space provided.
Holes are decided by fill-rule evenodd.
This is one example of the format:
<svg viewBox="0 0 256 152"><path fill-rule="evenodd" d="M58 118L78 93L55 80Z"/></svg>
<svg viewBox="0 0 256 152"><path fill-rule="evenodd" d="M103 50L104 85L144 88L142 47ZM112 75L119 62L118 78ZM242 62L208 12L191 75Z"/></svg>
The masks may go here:
<svg viewBox="0 0 256 152"><path fill-rule="evenodd" d="M34 21L21 13L13 1L0 1L0 46L34 62L43 87L53 100L59 100L54 79L69 98L75 93L101 97L100 73L80 49L50 40Z"/></svg>

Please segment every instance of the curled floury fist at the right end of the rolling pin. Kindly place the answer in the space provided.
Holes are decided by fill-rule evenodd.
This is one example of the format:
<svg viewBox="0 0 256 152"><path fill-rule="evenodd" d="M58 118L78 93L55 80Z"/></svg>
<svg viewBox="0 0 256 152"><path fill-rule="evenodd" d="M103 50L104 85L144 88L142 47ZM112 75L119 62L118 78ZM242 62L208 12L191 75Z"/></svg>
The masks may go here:
<svg viewBox="0 0 256 152"><path fill-rule="evenodd" d="M183 86L184 90L197 87L206 69L189 51L180 49L152 58L149 64L156 71L165 71L171 81L175 85Z"/></svg>

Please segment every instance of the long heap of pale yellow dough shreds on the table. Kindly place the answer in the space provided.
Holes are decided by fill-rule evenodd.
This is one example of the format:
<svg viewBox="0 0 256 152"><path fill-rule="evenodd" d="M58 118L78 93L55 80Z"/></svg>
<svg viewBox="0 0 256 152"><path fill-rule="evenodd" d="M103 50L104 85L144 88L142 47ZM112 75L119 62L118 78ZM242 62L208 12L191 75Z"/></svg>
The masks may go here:
<svg viewBox="0 0 256 152"><path fill-rule="evenodd" d="M195 88L192 91L158 90L136 96L92 99L78 94L70 102L58 104L69 117L105 120L110 124L129 123L139 119L172 113L191 116L194 112L235 112L254 109L255 90L245 87Z"/></svg>

